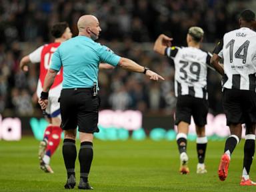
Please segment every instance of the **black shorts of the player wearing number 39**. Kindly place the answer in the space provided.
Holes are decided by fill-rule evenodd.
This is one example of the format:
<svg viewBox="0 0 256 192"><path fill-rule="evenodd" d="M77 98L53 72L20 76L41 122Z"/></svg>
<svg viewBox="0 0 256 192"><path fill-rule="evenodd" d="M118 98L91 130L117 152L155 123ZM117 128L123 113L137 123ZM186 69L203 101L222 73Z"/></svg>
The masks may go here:
<svg viewBox="0 0 256 192"><path fill-rule="evenodd" d="M207 124L208 101L190 95L179 95L176 104L175 125L181 121L191 123L191 115L195 125L203 127Z"/></svg>

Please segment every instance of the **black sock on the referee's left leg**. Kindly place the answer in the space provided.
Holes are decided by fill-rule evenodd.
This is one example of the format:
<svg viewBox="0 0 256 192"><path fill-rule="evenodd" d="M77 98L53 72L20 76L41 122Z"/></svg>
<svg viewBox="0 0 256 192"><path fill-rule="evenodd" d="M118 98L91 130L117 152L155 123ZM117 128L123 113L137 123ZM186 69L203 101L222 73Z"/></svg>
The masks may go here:
<svg viewBox="0 0 256 192"><path fill-rule="evenodd" d="M62 147L63 159L67 169L67 177L75 175L75 159L77 159L77 148L75 147L75 140L64 139Z"/></svg>

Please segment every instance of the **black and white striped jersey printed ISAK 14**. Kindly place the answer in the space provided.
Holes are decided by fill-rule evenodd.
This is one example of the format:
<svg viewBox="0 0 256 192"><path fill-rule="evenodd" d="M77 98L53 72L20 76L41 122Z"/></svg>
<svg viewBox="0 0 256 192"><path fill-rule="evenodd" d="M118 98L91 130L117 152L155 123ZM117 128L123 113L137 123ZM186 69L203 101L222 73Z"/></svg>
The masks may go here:
<svg viewBox="0 0 256 192"><path fill-rule="evenodd" d="M223 88L256 91L256 32L241 27L226 33L217 46L224 60Z"/></svg>

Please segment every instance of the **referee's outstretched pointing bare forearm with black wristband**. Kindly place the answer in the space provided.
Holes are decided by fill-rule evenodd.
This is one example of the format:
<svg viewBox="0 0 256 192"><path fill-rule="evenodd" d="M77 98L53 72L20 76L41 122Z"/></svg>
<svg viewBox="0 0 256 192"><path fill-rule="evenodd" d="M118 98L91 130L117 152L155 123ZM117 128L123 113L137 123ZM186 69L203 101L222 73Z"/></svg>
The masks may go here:
<svg viewBox="0 0 256 192"><path fill-rule="evenodd" d="M135 63L131 59L121 57L118 65L128 71L133 71L133 72L137 72L137 73L145 73L145 75L147 75L149 77L149 79L151 79L151 80L155 80L155 81L157 81L158 79L165 80L161 75L158 75L157 73Z"/></svg>

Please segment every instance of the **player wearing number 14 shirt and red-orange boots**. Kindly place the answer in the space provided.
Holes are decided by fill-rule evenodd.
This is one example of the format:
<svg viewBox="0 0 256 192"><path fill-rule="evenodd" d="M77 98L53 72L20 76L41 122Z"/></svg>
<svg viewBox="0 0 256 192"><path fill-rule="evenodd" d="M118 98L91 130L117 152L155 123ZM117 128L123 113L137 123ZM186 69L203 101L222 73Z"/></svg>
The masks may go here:
<svg viewBox="0 0 256 192"><path fill-rule="evenodd" d="M225 33L213 51L211 63L218 65L224 60L223 109L231 135L225 143L224 154L219 164L219 179L225 181L231 154L241 139L242 124L245 123L245 146L243 172L240 185L256 185L249 178L255 153L256 123L256 32L253 31L255 13L246 9L239 17L240 29Z"/></svg>

